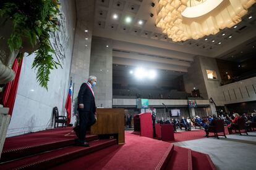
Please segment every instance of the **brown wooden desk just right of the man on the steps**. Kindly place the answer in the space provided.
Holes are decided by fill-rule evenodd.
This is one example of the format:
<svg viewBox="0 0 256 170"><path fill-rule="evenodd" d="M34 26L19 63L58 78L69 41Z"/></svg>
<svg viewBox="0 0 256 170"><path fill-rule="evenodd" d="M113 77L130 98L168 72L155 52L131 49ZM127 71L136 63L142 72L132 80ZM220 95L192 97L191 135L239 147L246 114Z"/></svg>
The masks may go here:
<svg viewBox="0 0 256 170"><path fill-rule="evenodd" d="M117 134L118 144L124 144L124 108L97 108L97 122L91 134Z"/></svg>

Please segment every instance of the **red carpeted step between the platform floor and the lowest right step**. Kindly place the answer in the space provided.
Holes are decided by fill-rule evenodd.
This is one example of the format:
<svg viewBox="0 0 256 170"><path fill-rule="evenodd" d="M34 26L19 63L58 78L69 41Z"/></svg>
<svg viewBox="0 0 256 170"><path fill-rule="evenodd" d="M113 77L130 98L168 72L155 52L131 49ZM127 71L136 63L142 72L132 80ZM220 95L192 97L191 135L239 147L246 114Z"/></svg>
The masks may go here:
<svg viewBox="0 0 256 170"><path fill-rule="evenodd" d="M166 169L191 170L192 155L189 148L174 146L174 152L168 162Z"/></svg>

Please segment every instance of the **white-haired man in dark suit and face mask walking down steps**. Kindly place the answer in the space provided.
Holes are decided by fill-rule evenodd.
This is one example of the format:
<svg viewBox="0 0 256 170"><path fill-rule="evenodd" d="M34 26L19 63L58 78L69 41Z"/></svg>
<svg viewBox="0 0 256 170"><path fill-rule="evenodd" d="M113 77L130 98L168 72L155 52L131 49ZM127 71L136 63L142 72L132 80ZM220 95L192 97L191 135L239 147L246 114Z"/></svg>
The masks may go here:
<svg viewBox="0 0 256 170"><path fill-rule="evenodd" d="M88 127L96 123L96 105L93 87L96 85L96 77L90 76L87 83L83 83L78 95L79 126L74 128L78 139L77 145L89 147L85 141Z"/></svg>

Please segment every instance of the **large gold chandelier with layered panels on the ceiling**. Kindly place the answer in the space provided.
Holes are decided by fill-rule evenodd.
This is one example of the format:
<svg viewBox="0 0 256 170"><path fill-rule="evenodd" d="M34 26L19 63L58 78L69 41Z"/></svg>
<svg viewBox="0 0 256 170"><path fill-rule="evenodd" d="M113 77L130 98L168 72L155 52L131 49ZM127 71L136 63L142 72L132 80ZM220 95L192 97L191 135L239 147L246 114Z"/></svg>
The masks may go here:
<svg viewBox="0 0 256 170"><path fill-rule="evenodd" d="M216 34L241 22L256 0L159 0L156 26L173 41Z"/></svg>

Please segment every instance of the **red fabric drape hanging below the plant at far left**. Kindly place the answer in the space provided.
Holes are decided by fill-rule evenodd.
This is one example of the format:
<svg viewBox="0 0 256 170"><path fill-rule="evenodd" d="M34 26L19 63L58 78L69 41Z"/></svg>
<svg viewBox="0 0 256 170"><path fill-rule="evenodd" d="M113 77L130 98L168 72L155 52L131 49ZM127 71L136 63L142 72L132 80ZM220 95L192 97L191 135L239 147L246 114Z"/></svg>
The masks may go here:
<svg viewBox="0 0 256 170"><path fill-rule="evenodd" d="M15 59L14 64L12 65L12 70L14 70L15 78L11 82L6 84L6 89L4 91L4 95L2 97L2 103L4 103L4 107L9 107L9 115L12 116L12 110L14 109L15 98L17 94L19 78L20 78L20 70L22 68L22 61L19 62Z"/></svg>

